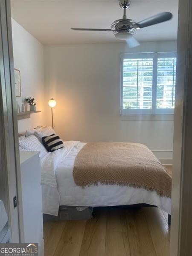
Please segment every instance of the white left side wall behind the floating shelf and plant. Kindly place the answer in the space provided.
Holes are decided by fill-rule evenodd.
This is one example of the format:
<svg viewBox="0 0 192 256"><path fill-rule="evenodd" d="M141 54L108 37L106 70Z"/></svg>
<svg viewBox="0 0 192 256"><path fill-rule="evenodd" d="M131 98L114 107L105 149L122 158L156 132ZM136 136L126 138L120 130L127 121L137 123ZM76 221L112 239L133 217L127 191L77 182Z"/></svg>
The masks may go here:
<svg viewBox="0 0 192 256"><path fill-rule="evenodd" d="M28 97L35 98L37 110L41 113L31 115L30 119L18 121L20 133L26 129L44 124L44 47L32 35L12 19L12 38L14 67L20 70L20 104ZM26 106L29 110L29 106Z"/></svg>

